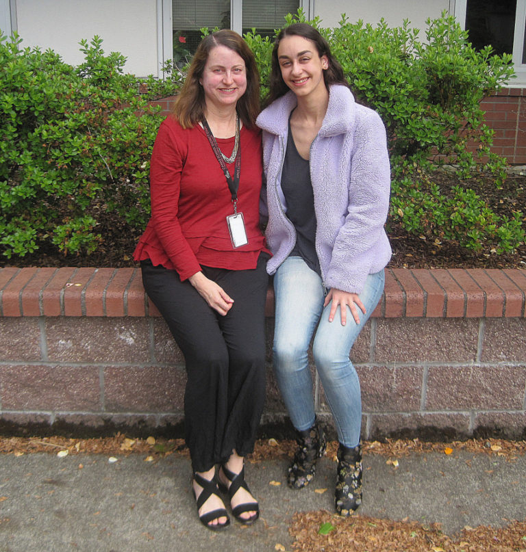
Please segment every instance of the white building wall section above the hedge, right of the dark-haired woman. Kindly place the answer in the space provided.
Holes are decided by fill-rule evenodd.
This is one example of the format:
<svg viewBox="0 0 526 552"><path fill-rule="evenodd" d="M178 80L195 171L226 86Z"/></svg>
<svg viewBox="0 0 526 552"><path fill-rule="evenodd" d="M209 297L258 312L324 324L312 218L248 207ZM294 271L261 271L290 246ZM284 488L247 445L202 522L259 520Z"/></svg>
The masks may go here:
<svg viewBox="0 0 526 552"><path fill-rule="evenodd" d="M376 25L383 17L389 27L400 27L409 19L410 27L425 29L427 18L438 18L449 10L450 0L314 0L314 15L322 19L322 27L338 27L341 14L349 23L362 19Z"/></svg>

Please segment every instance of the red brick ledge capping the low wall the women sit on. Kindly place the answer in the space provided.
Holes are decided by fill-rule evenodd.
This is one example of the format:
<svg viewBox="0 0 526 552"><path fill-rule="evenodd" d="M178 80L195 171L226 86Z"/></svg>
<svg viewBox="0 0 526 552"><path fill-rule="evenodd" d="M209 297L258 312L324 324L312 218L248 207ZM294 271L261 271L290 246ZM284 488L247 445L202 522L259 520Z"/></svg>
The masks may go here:
<svg viewBox="0 0 526 552"><path fill-rule="evenodd" d="M373 317L525 317L526 270L386 269ZM269 289L266 315L273 316ZM140 269L0 269L0 316L160 316Z"/></svg>

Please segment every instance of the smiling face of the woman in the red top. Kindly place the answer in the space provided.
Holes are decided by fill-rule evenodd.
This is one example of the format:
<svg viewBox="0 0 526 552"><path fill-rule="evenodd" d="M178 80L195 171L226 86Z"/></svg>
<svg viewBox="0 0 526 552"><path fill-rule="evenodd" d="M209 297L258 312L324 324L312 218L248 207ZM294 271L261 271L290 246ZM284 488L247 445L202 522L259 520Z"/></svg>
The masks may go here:
<svg viewBox="0 0 526 552"><path fill-rule="evenodd" d="M247 70L243 58L219 44L212 48L200 79L207 109L236 105L247 90Z"/></svg>

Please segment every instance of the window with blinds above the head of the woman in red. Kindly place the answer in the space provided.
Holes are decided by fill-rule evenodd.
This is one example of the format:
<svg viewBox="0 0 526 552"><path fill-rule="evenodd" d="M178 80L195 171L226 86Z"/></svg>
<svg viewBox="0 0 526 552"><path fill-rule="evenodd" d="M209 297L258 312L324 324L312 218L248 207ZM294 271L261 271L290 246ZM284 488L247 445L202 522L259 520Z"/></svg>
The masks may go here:
<svg viewBox="0 0 526 552"><path fill-rule="evenodd" d="M183 66L197 49L201 27L234 29L246 33L255 27L273 36L284 16L295 13L301 0L172 0L173 60Z"/></svg>

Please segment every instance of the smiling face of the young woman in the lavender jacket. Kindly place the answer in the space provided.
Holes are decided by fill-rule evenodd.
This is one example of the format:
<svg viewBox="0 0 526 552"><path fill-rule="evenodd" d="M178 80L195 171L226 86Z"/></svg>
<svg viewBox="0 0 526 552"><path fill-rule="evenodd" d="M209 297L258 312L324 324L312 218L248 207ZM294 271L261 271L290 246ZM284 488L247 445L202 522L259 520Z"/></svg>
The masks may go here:
<svg viewBox="0 0 526 552"><path fill-rule="evenodd" d="M285 36L277 48L281 77L297 96L325 92L323 69L328 66L326 55L318 54L316 44L303 36Z"/></svg>

